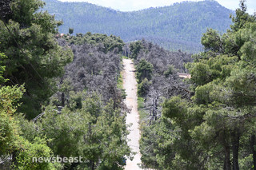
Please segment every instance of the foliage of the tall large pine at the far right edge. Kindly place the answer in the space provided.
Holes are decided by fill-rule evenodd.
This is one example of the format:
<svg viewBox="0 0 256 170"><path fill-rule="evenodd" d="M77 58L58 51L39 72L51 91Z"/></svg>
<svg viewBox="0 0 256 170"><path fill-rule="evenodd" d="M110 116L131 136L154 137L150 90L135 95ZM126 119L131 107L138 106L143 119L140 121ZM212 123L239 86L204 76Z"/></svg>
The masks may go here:
<svg viewBox="0 0 256 170"><path fill-rule="evenodd" d="M230 169L231 165L239 167L238 154L245 154L247 149L242 146L239 148L240 138L248 135L248 130L252 128L251 122L256 121L255 118L250 118L250 121L242 119L246 114L254 112L251 101L255 90L251 85L256 83L252 78L254 59L245 61L243 58L252 57L251 54L254 53L250 38L254 37L251 29L255 23L251 23L251 17L243 11L243 7L236 10L238 18L233 19L231 31L222 37L213 30L204 34L202 43L208 51L202 53L202 57L191 64L192 67L188 65L191 81L196 85L192 98L194 104L206 108L201 125L190 130L191 136L199 141L206 152L222 150L225 153L226 169ZM250 46L248 54L243 50L248 48L247 45ZM248 143L250 144L250 140L243 141L243 144ZM227 148L233 148L232 155ZM230 156L233 156L232 164ZM214 161L222 160L222 157L215 156Z"/></svg>

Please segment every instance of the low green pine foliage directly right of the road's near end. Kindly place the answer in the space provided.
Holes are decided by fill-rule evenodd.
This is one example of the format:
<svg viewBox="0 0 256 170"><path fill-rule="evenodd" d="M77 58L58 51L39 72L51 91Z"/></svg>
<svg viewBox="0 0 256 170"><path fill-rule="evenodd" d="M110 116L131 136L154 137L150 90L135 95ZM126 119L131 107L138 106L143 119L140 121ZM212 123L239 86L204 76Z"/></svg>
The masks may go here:
<svg viewBox="0 0 256 170"><path fill-rule="evenodd" d="M140 147L145 168L174 169L170 167L173 166L172 159L175 157L172 144L177 134L170 126L170 119L161 119L150 127L144 126L142 129Z"/></svg>

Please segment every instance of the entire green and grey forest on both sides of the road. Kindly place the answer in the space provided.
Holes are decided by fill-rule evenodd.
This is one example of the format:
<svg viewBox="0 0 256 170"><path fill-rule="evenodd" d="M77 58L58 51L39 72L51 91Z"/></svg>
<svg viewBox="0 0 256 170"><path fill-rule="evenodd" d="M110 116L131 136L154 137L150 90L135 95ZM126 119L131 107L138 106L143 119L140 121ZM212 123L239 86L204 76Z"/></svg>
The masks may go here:
<svg viewBox="0 0 256 170"><path fill-rule="evenodd" d="M207 3L217 4L199 4ZM142 168L256 169L256 15L244 0L229 30L202 34L197 54L143 38L73 35L76 27L60 34L62 22L43 6L0 0L0 169L124 169L134 156L122 89L126 57L138 81Z"/></svg>

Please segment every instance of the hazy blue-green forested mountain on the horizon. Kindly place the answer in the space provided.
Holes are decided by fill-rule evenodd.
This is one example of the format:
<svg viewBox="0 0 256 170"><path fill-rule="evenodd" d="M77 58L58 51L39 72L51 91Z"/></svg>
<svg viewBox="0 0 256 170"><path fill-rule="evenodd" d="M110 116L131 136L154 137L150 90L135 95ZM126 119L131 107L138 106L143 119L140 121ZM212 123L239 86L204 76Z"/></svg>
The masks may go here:
<svg viewBox="0 0 256 170"><path fill-rule="evenodd" d="M114 34L125 42L145 38L166 49L192 53L202 49L200 40L207 28L225 32L231 24L230 14L234 14L213 0L181 2L134 12L120 12L87 2L44 1L44 10L63 20L61 33L68 33L71 27L74 34Z"/></svg>

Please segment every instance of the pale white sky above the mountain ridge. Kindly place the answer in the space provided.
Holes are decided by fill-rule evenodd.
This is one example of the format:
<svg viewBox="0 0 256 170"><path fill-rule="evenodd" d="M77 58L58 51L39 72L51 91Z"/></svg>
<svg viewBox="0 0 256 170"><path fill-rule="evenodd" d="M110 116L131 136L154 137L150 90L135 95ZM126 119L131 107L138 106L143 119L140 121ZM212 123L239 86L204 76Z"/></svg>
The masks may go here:
<svg viewBox="0 0 256 170"><path fill-rule="evenodd" d="M142 10L156 6L170 6L175 2L184 0L59 0L62 2L90 2L99 6L110 7L114 10L133 11ZM198 0L192 0L198 1ZM239 0L217 0L222 6L230 10L235 10L239 6ZM247 10L250 14L256 11L256 0L246 1Z"/></svg>

